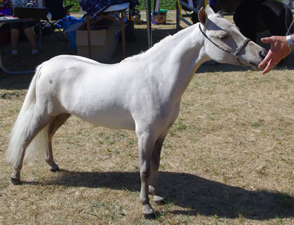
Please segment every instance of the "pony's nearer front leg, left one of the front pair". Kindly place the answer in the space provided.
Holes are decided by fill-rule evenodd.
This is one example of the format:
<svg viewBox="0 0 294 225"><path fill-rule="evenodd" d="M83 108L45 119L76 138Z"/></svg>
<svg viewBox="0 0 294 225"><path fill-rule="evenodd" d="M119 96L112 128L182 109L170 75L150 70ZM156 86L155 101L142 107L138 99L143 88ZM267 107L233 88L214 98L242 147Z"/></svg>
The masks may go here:
<svg viewBox="0 0 294 225"><path fill-rule="evenodd" d="M140 176L141 192L140 202L143 205L143 215L146 218L155 218L155 211L150 206L148 197L148 183L151 173L151 155L155 144L155 139L150 133L138 135L139 142L139 159L140 159Z"/></svg>

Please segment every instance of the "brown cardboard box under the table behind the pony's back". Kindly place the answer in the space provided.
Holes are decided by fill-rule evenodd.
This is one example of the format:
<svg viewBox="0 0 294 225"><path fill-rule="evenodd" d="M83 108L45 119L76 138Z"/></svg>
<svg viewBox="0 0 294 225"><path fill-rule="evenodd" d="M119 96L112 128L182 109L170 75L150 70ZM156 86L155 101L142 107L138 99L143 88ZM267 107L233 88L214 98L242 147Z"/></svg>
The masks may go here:
<svg viewBox="0 0 294 225"><path fill-rule="evenodd" d="M92 59L105 63L115 52L115 30L110 28L104 30L90 30ZM76 33L77 55L89 57L87 30L77 30Z"/></svg>

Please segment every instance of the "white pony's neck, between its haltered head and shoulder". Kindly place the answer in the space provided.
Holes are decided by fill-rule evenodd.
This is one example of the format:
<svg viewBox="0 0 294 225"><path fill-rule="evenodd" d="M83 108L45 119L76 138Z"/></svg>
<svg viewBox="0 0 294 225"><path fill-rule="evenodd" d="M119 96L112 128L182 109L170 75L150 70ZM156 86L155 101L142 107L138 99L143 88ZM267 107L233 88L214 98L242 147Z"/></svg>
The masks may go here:
<svg viewBox="0 0 294 225"><path fill-rule="evenodd" d="M158 60L154 66L161 71L160 76L164 79L164 84L169 86L171 92L181 97L197 68L210 59L204 54L204 37L197 24L162 42L163 44L159 42L158 46L146 53L152 53L150 57L156 55Z"/></svg>

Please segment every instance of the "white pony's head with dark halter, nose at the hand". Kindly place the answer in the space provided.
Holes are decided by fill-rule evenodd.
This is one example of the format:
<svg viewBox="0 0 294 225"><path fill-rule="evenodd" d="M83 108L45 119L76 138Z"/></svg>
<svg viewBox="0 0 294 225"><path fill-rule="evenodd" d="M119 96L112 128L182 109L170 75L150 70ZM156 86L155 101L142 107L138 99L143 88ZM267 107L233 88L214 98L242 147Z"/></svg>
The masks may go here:
<svg viewBox="0 0 294 225"><path fill-rule="evenodd" d="M219 63L251 66L257 69L266 56L266 50L244 37L239 29L215 13L210 6L198 12L199 30L205 37L206 54Z"/></svg>

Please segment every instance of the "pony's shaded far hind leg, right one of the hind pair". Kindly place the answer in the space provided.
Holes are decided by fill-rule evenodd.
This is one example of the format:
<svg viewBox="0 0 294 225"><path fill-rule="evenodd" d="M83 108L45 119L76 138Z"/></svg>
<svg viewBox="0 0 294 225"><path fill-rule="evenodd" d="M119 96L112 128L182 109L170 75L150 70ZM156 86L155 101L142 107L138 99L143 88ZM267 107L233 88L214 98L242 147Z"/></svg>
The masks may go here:
<svg viewBox="0 0 294 225"><path fill-rule="evenodd" d="M66 122L70 117L70 114L64 113L55 117L54 120L50 122L49 126L49 143L48 143L48 152L46 153L45 161L49 164L50 171L57 172L59 171L59 166L55 163L53 158L52 151L52 137L55 135L56 131Z"/></svg>

